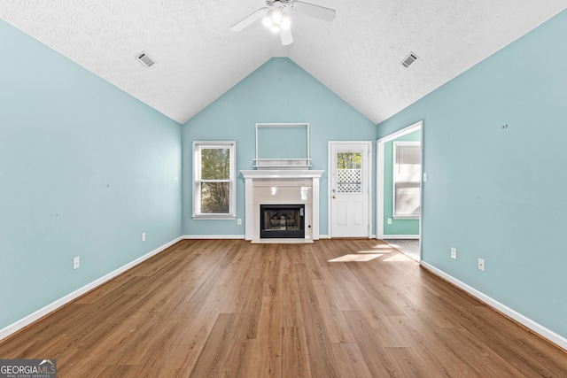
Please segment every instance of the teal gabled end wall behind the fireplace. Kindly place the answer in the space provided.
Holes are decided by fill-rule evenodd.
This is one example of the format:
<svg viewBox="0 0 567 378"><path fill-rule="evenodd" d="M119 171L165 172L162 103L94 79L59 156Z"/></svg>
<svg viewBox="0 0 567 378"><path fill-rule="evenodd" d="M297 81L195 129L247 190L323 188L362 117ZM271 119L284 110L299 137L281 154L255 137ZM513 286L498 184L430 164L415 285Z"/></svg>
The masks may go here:
<svg viewBox="0 0 567 378"><path fill-rule="evenodd" d="M313 169L324 170L321 180L322 235L327 224L328 141L374 141L376 125L288 58L272 58L244 81L183 126L183 233L185 235L244 235L245 185L238 173L237 218L243 220L193 220L191 218L191 143L194 140L237 141L237 170L252 169L256 123L307 122L310 127ZM282 140L281 144L293 143ZM373 158L375 161L375 158ZM373 174L372 182L376 181ZM373 192L373 197L375 196ZM374 222L373 222L374 224Z"/></svg>

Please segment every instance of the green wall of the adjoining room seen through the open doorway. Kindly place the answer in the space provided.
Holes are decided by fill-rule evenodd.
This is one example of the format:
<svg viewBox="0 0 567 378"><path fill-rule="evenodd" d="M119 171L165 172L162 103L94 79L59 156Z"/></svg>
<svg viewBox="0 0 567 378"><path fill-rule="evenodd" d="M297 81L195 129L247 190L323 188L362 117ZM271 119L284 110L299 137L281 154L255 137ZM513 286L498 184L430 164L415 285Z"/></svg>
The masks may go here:
<svg viewBox="0 0 567 378"><path fill-rule="evenodd" d="M419 235L419 220L393 219L393 143L419 142L421 130L402 135L384 143L384 237L388 235ZM392 218L392 224L388 224Z"/></svg>

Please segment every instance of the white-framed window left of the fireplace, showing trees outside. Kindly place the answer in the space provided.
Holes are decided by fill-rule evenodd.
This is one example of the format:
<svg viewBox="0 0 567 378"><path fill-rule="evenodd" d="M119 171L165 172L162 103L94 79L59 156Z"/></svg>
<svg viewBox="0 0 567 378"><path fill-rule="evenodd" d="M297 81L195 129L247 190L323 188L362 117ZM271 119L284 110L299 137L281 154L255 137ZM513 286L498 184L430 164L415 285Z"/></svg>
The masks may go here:
<svg viewBox="0 0 567 378"><path fill-rule="evenodd" d="M236 142L193 142L193 218L236 218Z"/></svg>

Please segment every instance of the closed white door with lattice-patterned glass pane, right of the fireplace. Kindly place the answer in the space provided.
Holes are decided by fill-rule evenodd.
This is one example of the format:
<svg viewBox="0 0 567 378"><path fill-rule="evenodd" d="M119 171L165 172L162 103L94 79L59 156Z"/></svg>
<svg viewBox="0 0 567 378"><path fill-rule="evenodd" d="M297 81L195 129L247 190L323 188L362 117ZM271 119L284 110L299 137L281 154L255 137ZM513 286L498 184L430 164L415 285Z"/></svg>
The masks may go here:
<svg viewBox="0 0 567 378"><path fill-rule="evenodd" d="M369 237L370 142L330 142L330 237Z"/></svg>

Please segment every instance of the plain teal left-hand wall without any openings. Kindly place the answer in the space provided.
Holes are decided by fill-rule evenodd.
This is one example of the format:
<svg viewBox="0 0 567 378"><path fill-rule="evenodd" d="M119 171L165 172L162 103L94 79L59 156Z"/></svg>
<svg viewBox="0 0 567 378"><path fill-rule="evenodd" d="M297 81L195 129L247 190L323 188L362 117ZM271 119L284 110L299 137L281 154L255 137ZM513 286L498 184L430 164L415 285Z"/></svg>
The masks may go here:
<svg viewBox="0 0 567 378"><path fill-rule="evenodd" d="M181 235L181 126L4 21L0 50L1 329Z"/></svg>

